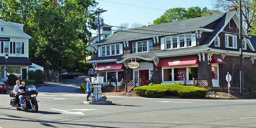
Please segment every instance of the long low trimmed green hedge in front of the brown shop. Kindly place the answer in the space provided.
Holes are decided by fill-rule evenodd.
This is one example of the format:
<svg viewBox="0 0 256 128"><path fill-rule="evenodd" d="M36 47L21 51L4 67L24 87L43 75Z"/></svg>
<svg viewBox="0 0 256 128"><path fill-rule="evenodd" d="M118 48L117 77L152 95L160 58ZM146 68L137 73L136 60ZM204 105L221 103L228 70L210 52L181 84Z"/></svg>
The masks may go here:
<svg viewBox="0 0 256 128"><path fill-rule="evenodd" d="M152 86L135 87L134 93L147 97L160 97L170 94L181 97L205 97L208 90L201 87L179 84L155 84Z"/></svg>

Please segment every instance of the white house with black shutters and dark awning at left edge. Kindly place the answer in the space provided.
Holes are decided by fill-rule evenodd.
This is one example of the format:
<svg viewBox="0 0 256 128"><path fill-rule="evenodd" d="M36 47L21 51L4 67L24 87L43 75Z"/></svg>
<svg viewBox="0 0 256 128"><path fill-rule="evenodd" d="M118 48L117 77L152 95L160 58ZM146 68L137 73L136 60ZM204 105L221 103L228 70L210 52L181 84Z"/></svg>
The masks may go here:
<svg viewBox="0 0 256 128"><path fill-rule="evenodd" d="M29 39L31 36L23 32L23 24L6 22L0 19L0 78L6 81L7 75L15 74L19 79L28 79L29 65ZM41 67L41 66L40 66Z"/></svg>

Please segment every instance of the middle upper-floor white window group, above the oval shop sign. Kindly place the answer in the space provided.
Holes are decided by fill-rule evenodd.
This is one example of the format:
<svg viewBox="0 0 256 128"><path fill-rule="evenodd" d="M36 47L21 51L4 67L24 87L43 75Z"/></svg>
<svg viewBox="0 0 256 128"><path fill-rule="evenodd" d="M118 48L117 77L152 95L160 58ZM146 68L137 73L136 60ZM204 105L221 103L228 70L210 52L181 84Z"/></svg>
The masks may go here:
<svg viewBox="0 0 256 128"><path fill-rule="evenodd" d="M133 46L133 53L147 52L149 48L149 41L133 42L132 46ZM153 49L153 43L152 43L152 49Z"/></svg>

